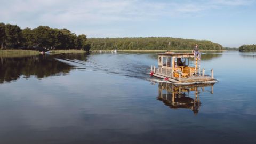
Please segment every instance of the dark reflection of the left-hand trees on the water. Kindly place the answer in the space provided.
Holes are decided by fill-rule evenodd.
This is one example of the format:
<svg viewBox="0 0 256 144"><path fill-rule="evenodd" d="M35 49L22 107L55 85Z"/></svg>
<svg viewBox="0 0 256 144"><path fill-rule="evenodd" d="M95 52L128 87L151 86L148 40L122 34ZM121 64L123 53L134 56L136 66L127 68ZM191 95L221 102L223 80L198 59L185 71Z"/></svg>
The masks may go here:
<svg viewBox="0 0 256 144"><path fill-rule="evenodd" d="M0 84L14 81L20 76L29 78L36 76L38 79L51 75L65 75L73 68L67 63L55 60L58 58L85 59L85 54L62 54L55 55L36 55L32 57L1 57L0 58Z"/></svg>

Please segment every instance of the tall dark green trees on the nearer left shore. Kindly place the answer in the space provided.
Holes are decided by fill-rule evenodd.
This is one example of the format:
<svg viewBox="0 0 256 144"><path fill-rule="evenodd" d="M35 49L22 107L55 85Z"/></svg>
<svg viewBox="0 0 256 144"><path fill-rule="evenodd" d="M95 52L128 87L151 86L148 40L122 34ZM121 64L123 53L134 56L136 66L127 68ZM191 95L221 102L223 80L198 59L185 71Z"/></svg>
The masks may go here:
<svg viewBox="0 0 256 144"><path fill-rule="evenodd" d="M89 51L86 35L76 35L68 29L38 26L21 29L17 25L0 23L1 49L33 49L39 45L47 49L84 49Z"/></svg>

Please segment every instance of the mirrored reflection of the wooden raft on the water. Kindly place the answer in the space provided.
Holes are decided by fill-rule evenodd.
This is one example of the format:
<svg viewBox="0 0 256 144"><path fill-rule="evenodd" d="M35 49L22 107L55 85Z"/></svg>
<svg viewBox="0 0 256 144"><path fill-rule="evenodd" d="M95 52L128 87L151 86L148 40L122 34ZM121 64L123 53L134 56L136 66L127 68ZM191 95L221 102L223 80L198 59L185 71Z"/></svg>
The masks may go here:
<svg viewBox="0 0 256 144"><path fill-rule="evenodd" d="M157 99L163 101L166 106L172 109L187 108L191 109L197 115L201 106L199 94L201 92L210 92L213 94L213 85L197 84L182 86L160 82L158 85L159 95ZM210 87L210 90L206 90L206 87ZM193 96L189 95L191 92L194 93Z"/></svg>

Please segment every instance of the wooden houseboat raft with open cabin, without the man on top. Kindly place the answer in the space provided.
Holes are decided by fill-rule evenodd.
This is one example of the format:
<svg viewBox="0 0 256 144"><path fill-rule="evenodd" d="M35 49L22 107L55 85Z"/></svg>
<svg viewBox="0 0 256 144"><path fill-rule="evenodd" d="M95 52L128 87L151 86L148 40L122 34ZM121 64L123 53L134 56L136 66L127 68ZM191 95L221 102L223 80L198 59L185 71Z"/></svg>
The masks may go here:
<svg viewBox="0 0 256 144"><path fill-rule="evenodd" d="M204 68L201 71L200 59L193 53L158 53L158 68L151 66L149 74L183 85L217 82L213 77L213 69L211 76L205 75Z"/></svg>

